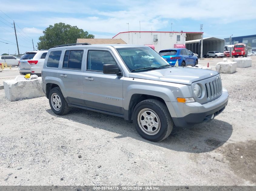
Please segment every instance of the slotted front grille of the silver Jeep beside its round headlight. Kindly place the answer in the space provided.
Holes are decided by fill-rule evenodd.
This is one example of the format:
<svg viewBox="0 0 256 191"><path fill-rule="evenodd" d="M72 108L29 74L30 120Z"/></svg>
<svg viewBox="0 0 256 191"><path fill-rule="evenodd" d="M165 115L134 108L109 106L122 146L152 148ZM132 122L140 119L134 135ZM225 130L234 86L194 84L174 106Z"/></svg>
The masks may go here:
<svg viewBox="0 0 256 191"><path fill-rule="evenodd" d="M222 92L222 84L219 77L215 78L213 81L205 83L204 85L206 96L210 100L218 97Z"/></svg>

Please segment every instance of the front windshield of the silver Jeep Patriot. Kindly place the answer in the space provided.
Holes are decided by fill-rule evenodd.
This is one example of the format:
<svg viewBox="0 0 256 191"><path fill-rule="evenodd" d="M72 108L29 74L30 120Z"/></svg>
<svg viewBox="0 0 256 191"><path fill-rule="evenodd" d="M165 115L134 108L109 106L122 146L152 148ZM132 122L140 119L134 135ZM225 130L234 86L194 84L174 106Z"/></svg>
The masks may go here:
<svg viewBox="0 0 256 191"><path fill-rule="evenodd" d="M117 48L117 51L131 72L171 67L165 59L149 47Z"/></svg>

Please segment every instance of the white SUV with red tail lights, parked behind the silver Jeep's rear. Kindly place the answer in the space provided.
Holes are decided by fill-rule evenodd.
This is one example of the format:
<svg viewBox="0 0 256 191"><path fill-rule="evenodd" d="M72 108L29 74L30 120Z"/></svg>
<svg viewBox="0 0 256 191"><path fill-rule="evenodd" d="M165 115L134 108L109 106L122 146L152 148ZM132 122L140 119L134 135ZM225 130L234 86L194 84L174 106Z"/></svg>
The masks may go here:
<svg viewBox="0 0 256 191"><path fill-rule="evenodd" d="M19 60L20 74L36 74L41 76L47 52L48 50L26 52Z"/></svg>

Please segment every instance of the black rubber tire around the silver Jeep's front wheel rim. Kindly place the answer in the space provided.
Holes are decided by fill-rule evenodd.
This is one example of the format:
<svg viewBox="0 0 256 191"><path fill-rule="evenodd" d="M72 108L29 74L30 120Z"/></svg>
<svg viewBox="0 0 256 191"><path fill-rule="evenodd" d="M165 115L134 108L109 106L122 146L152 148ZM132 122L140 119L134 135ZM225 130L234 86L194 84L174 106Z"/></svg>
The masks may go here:
<svg viewBox="0 0 256 191"><path fill-rule="evenodd" d="M157 115L157 117L159 119L159 128L158 128L159 130L155 132L156 133L155 135L150 135L150 134L145 133L142 130L143 127L141 126L141 123L138 121L138 120L141 120L140 117L138 116L141 113L141 111L143 111L143 110L148 111L148 109L155 112L155 114ZM149 112L149 114L147 112L147 115L152 116L152 114L150 114L150 112ZM162 103L161 101L158 101L155 99L143 100L140 103L138 103L133 110L132 119L133 119L133 123L135 125L135 129L137 130L139 135L141 135L142 138L145 138L145 139L147 139L149 141L153 141L153 142L162 141L165 138L167 138L171 134L171 131L174 126L171 115L170 115L166 105L164 103ZM155 118L153 120L155 121ZM148 124L150 124L149 122L148 122Z"/></svg>

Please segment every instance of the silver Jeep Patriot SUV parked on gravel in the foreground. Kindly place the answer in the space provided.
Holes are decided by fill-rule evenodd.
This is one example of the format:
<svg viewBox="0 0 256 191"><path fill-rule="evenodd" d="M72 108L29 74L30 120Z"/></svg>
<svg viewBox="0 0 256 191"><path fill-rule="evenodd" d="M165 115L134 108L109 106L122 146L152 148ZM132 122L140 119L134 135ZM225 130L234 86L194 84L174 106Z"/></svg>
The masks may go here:
<svg viewBox="0 0 256 191"><path fill-rule="evenodd" d="M148 46L55 46L42 81L55 114L78 107L123 117L154 142L167 138L174 125L213 119L228 103L218 72L172 67Z"/></svg>

